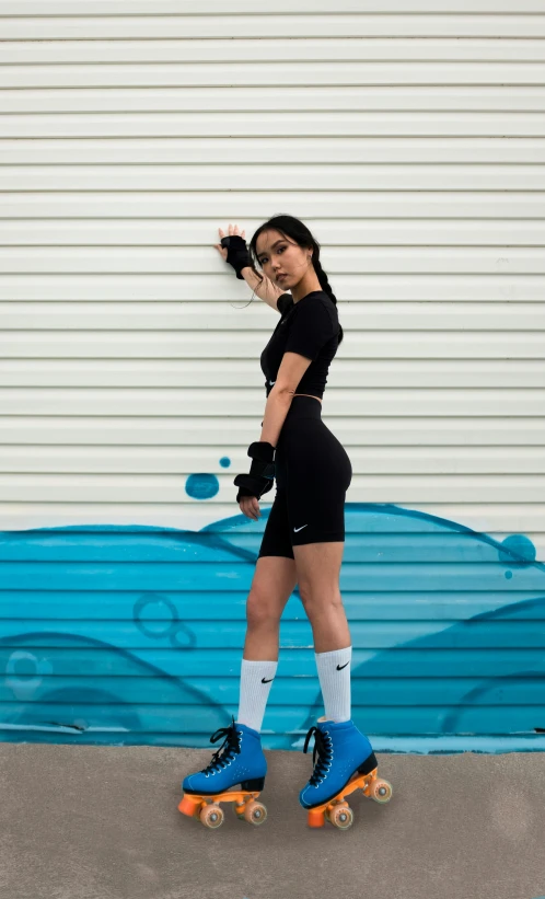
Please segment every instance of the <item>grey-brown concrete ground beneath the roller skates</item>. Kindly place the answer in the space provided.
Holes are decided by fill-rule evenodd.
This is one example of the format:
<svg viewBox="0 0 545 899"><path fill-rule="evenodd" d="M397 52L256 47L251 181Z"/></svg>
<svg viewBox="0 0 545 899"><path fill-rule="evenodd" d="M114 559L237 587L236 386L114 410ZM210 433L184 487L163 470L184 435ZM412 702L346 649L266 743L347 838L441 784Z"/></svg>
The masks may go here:
<svg viewBox="0 0 545 899"><path fill-rule="evenodd" d="M309 829L312 752L267 751L260 827L177 810L209 749L0 744L5 899L545 897L545 756L376 753L387 805Z"/></svg>

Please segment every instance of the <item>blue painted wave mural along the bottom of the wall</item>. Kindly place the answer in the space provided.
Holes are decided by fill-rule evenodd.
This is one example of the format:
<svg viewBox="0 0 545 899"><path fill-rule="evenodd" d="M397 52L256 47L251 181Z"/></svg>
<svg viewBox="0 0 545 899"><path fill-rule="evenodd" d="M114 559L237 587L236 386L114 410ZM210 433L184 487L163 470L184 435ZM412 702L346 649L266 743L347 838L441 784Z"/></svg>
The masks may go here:
<svg viewBox="0 0 545 899"><path fill-rule="evenodd" d="M209 747L236 715L269 510L198 532L1 532L0 739ZM484 751L505 737L511 749L543 750L545 565L532 541L499 542L393 505L347 504L345 521L352 717L375 749L414 751L416 739L419 751L441 751L434 740L455 736L482 738ZM301 748L321 714L295 589L264 747Z"/></svg>

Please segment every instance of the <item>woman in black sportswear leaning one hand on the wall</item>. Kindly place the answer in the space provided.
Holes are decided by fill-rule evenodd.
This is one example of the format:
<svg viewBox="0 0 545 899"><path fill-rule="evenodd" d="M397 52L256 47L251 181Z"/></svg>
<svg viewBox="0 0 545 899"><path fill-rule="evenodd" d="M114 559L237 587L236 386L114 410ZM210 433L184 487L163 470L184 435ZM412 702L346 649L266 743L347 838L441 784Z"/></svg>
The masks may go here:
<svg viewBox="0 0 545 899"><path fill-rule="evenodd" d="M211 737L225 740L207 768L188 775L186 794L218 796L235 784L260 791L267 762L259 731L278 665L282 610L295 584L312 625L325 715L314 734L312 776L300 793L312 809L337 796L356 771L376 768L371 744L350 718L351 641L339 590L344 506L352 469L339 440L322 420L327 371L343 329L337 300L320 262L320 244L292 216L276 216L250 243L237 226L216 244L236 277L280 314L260 365L267 402L260 440L248 448L250 474L239 474L236 502L257 520L259 499L276 496L263 534L247 598L247 632L241 671L239 717ZM290 293L285 292L291 291Z"/></svg>

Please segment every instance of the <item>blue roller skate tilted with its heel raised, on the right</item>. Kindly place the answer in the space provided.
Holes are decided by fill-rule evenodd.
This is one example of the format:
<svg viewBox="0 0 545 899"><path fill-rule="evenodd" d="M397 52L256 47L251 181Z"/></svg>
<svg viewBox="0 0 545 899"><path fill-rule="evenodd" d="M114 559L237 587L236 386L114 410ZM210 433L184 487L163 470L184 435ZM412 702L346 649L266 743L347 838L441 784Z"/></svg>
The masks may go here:
<svg viewBox="0 0 545 899"><path fill-rule="evenodd" d="M392 786L376 776L378 762L368 738L353 722L317 719L317 727L306 734L303 752L314 734L314 765L311 779L299 794L299 802L309 810L309 827L324 827L325 820L346 830L353 822L353 812L345 799L361 789L376 803L387 803Z"/></svg>

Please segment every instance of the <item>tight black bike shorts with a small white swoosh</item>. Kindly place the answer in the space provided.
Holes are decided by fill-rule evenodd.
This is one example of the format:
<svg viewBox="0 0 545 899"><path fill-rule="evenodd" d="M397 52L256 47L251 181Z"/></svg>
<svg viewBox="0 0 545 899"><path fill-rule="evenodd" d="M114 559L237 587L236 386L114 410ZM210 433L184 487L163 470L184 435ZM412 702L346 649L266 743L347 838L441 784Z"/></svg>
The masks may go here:
<svg viewBox="0 0 545 899"><path fill-rule="evenodd" d="M352 466L345 448L322 420L322 403L315 397L292 397L275 465L276 496L257 557L294 558L293 546L344 542L345 498Z"/></svg>

